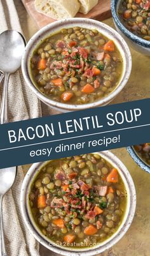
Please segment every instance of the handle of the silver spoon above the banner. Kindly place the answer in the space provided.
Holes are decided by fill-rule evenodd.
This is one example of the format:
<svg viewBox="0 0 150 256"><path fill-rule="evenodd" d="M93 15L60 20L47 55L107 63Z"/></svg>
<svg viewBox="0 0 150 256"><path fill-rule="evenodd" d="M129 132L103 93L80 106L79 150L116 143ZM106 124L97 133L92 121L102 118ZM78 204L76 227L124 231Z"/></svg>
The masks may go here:
<svg viewBox="0 0 150 256"><path fill-rule="evenodd" d="M3 86L3 96L1 100L1 110L0 110L0 123L4 124L8 121L8 102L7 102L7 94L8 94L8 80L10 74L6 73L4 75L4 86Z"/></svg>

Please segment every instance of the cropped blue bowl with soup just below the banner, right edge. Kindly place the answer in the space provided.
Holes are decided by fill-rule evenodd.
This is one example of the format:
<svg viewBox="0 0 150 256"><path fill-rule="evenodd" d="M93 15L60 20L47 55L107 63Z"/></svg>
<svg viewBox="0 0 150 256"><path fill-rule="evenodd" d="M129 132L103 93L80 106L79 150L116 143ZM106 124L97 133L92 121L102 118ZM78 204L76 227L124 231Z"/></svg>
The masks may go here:
<svg viewBox="0 0 150 256"><path fill-rule="evenodd" d="M128 153L143 170L150 173L150 143L127 147Z"/></svg>

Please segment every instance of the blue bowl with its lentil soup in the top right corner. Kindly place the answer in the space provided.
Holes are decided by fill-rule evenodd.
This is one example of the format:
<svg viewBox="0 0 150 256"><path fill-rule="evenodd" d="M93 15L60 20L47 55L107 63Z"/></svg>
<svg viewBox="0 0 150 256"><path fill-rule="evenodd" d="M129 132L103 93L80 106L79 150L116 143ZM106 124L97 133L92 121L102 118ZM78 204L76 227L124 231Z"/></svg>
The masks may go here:
<svg viewBox="0 0 150 256"><path fill-rule="evenodd" d="M150 56L150 1L111 0L111 11L121 36L133 49Z"/></svg>

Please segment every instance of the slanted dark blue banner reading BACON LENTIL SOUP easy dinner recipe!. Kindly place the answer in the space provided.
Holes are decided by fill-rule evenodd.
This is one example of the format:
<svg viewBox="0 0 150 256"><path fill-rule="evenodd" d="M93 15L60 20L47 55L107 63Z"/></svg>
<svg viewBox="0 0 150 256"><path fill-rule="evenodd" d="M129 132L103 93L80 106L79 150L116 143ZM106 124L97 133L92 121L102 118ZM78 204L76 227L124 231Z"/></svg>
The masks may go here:
<svg viewBox="0 0 150 256"><path fill-rule="evenodd" d="M0 125L0 168L150 142L150 99Z"/></svg>

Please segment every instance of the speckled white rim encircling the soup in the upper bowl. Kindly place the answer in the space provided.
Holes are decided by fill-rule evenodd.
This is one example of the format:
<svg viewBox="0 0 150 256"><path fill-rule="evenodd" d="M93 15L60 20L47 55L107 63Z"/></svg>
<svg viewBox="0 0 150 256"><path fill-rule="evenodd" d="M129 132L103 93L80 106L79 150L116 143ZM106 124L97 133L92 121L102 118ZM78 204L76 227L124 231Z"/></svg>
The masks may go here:
<svg viewBox="0 0 150 256"><path fill-rule="evenodd" d="M98 100L97 102L93 102L93 103L86 103L86 104L81 104L81 105L76 105L76 104L67 104L67 103L60 103L60 102L55 102L53 100L51 100L50 98L44 96L44 94L42 94L41 92L39 92L39 90L36 88L36 86L32 83L32 79L30 77L30 74L28 72L28 64L29 64L29 55L31 53L31 49L34 45L34 43L36 42L36 45L38 43L38 40L40 39L40 37L44 38L44 34L48 33L48 31L50 31L51 29L55 29L55 27L62 27L62 26L74 26L74 24L76 24L76 26L83 26L83 24L87 25L95 25L97 27L101 27L103 29L106 30L107 35L109 37L110 35L115 35L115 40L118 43L118 45L121 46L121 50L123 51L122 55L125 55L125 59L123 59L123 63L124 63L124 74L122 75L121 79L119 80L119 84L116 87L116 89L114 89L114 91L110 94L108 94L106 97ZM35 49L36 47L34 47ZM22 57L22 73L24 75L24 79L25 82L27 82L27 85L31 88L31 90L38 96L38 98L46 103L47 105L51 105L51 107L54 108L59 108L62 110L83 110L83 109L88 109L88 108L93 108L93 107L99 107L100 105L106 105L107 103L111 102L111 100L113 100L114 97L116 97L116 95L118 95L121 90L123 89L123 87L125 87L126 82L128 81L129 77L130 77L130 73L132 71L132 55L130 52L130 49L126 43L126 41L123 39L123 37L117 32L115 31L112 27L107 26L106 24L99 22L97 20L93 20L93 19L86 19L86 18L72 18L72 19L63 19L63 20L57 20L51 24L48 24L47 26L43 27L42 29L40 29L36 34L34 34L32 36L32 38L29 40L29 42L27 43L26 47L25 47L25 51L24 51L24 55Z"/></svg>

